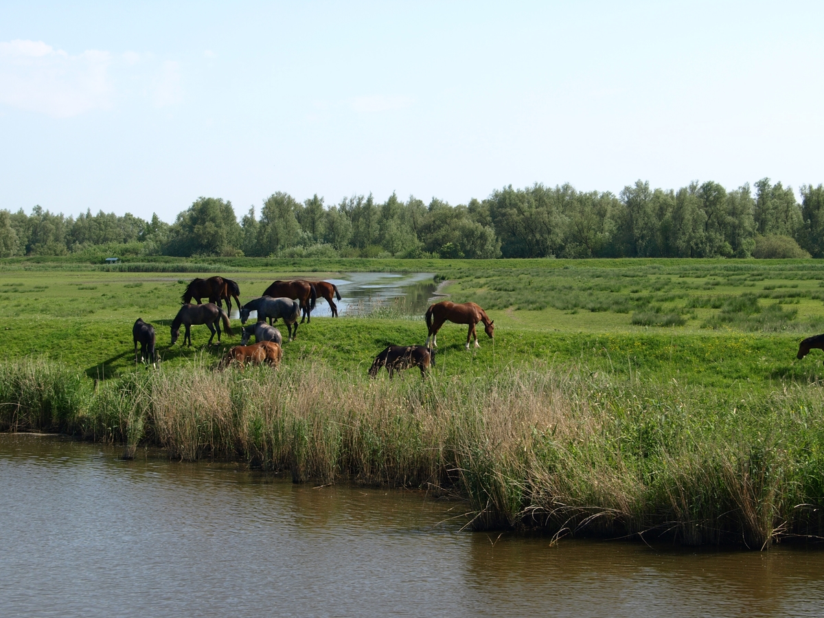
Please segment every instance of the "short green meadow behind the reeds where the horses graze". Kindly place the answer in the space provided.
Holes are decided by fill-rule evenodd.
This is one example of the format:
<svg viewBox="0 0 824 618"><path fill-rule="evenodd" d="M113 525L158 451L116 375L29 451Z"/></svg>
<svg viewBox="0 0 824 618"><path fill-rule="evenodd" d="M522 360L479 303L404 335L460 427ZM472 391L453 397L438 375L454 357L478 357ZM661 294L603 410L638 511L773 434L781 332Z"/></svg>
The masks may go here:
<svg viewBox="0 0 824 618"><path fill-rule="evenodd" d="M385 271L402 263L405 271L436 273L442 293L479 303L496 325L494 341L481 334L481 348L470 353L462 348L465 326L443 327L437 372L447 376L533 360L715 388L807 384L822 376L818 351L794 358L799 339L824 331L824 265L813 260L288 260L268 268L255 261L209 265L214 270L204 274L230 273L244 300L274 279L339 277L344 268ZM44 358L88 377L119 376L134 370L137 317L155 325L163 362L173 367L197 355L217 358L239 343L238 335L224 335L222 345L205 349L208 329L194 326L193 348L169 345L169 325L193 274L3 266L6 360ZM386 345L425 339L423 316L405 315L403 307L316 317L284 344L284 362L312 358L365 373Z"/></svg>

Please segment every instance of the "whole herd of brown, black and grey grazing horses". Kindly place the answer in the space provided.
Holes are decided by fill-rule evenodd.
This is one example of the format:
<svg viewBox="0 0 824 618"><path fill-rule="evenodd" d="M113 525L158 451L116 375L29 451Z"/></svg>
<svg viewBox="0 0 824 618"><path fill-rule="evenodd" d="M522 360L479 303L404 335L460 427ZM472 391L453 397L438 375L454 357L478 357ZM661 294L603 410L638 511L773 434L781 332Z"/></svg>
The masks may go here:
<svg viewBox="0 0 824 618"><path fill-rule="evenodd" d="M283 336L274 328L274 322L279 319L287 325L289 341L297 337L298 318L300 323L310 323L311 311L315 309L316 300L321 296L329 303L332 316L338 316L338 307L333 298L340 300L340 293L334 283L327 281L308 281L295 279L292 281L275 281L265 289L263 296L255 298L246 304L240 301L240 286L232 279L224 277L209 277L208 279L194 279L186 287L181 297L183 304L171 322L171 344L174 345L180 336L180 326L185 326L183 343L192 344L190 327L192 325L207 325L211 336L208 344L212 344L214 335L218 335L220 342L221 323L228 335L233 335L229 324L229 313L222 308L226 301L227 309L232 311L232 298L235 300L241 316L241 325L246 325L251 311L257 311L257 322L245 326L241 336L241 345L227 350L218 367L225 368L236 363L241 368L246 363L269 364L277 367L283 358ZM201 301L206 298L204 305ZM192 303L194 300L196 303ZM426 311L427 338L424 345L390 345L377 355L369 376L377 377L382 368L386 368L389 377L402 369L417 367L421 375L426 376L428 368L435 366L435 348L438 347L438 330L442 325L451 321L455 324L466 324L469 329L466 333L466 349L470 348L472 339L475 347L480 348L475 325L481 322L486 335L494 338L494 321L489 319L486 311L474 302L441 301L430 305ZM269 321L267 324L267 320ZM152 325L141 318L134 322L132 328L134 338L134 362L157 364L157 349L155 348L155 331ZM255 336L255 344L247 345L250 337ZM138 344L140 353L138 355ZM798 346L797 358L804 358L811 349L824 350L824 334L803 339ZM139 361L138 361L139 358Z"/></svg>

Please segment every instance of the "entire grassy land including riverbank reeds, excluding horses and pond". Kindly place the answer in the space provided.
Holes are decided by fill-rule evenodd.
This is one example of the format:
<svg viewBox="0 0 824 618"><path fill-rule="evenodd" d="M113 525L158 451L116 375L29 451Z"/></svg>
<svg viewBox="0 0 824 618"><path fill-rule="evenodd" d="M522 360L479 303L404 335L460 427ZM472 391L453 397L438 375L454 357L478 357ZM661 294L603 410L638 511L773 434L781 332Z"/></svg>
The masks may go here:
<svg viewBox="0 0 824 618"><path fill-rule="evenodd" d="M274 279L401 260L271 261L212 273L232 272L243 300ZM296 480L437 486L470 499L475 527L750 547L824 536L824 353L795 358L824 331L824 263L402 261L496 325L469 352L466 327L445 325L426 382L368 380L387 344L426 338L401 307L313 318L279 372L213 372L239 337L205 349L195 326L193 348L169 346L194 276L175 263L0 263L0 428L238 458ZM157 328L157 372L134 366L138 316Z"/></svg>

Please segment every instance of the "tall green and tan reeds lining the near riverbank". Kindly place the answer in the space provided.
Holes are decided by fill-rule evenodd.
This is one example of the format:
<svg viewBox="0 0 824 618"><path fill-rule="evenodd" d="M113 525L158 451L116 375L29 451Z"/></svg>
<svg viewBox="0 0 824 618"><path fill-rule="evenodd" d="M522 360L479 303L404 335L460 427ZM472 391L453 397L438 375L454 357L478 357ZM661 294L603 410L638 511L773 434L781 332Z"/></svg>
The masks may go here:
<svg viewBox="0 0 824 618"><path fill-rule="evenodd" d="M476 529L755 549L824 536L822 413L815 385L756 397L541 363L427 381L193 363L96 387L0 364L5 430L237 459L296 482L440 488L469 500Z"/></svg>

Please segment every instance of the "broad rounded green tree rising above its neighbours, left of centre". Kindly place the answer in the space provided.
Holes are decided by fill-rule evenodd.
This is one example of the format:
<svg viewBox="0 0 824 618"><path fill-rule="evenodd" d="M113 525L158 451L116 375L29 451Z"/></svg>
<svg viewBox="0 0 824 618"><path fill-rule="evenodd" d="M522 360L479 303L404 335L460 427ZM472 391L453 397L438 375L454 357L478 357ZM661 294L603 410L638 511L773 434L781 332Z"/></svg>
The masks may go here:
<svg viewBox="0 0 824 618"><path fill-rule="evenodd" d="M240 245L241 227L232 202L202 197L177 215L166 255L235 255Z"/></svg>

